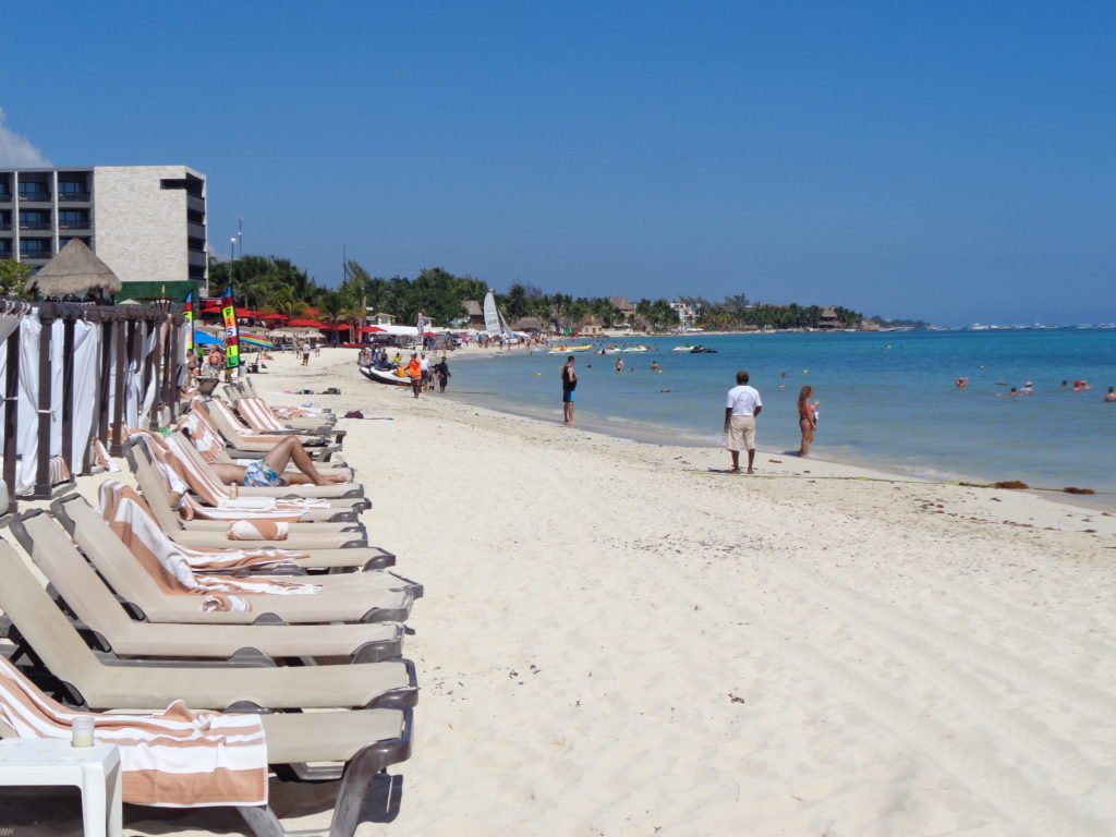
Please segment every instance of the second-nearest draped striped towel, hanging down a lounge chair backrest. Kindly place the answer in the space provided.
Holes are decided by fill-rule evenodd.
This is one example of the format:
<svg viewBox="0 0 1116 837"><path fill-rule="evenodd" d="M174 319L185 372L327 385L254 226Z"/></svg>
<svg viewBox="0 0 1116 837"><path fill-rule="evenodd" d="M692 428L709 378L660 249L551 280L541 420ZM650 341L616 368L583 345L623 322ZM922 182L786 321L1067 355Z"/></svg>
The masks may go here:
<svg viewBox="0 0 1116 837"><path fill-rule="evenodd" d="M133 501L133 493L121 483L103 489L102 514L163 593L201 596L200 610L243 612L252 609L251 599L246 596L314 595L321 590L321 585L267 576L232 578L195 573L179 546Z"/></svg>

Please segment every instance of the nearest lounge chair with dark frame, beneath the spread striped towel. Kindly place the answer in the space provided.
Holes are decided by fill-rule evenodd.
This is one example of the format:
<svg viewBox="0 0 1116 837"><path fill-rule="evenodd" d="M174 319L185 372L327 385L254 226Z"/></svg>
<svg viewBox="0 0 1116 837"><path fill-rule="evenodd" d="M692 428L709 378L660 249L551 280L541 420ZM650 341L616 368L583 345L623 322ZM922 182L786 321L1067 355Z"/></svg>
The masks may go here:
<svg viewBox="0 0 1116 837"><path fill-rule="evenodd" d="M36 703L65 712L64 706L50 701L33 683L18 676L22 691ZM413 710L264 713L259 721L263 727L267 762L279 779L314 782L340 779L333 821L325 833L328 837L353 837L360 822L389 821L394 817L401 785L386 770L411 757ZM15 738L19 738L16 729L0 720L0 739ZM257 837L288 834L268 805L235 805L235 808ZM296 833L289 834L296 837Z"/></svg>

